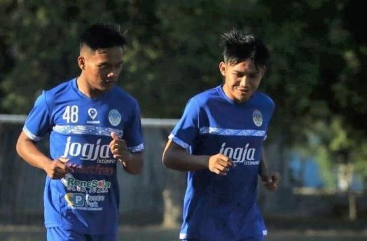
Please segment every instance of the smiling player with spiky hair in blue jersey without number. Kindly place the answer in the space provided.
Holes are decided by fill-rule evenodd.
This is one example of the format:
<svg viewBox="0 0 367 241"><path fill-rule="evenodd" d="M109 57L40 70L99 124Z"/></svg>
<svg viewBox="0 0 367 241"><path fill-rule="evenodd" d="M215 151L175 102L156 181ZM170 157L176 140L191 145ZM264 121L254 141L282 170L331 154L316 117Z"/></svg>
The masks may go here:
<svg viewBox="0 0 367 241"><path fill-rule="evenodd" d="M189 171L184 199L184 240L260 241L266 227L256 204L257 177L276 190L262 143L274 111L257 91L268 50L255 36L232 30L222 35L224 83L192 97L168 137L162 162Z"/></svg>

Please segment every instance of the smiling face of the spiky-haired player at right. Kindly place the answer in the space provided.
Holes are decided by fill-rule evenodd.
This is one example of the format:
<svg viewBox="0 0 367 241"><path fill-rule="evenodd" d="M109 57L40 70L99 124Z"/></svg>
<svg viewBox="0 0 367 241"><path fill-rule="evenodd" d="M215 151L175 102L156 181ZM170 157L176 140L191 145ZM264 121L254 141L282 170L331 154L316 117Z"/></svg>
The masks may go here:
<svg viewBox="0 0 367 241"><path fill-rule="evenodd" d="M256 91L265 73L265 67L258 66L256 69L251 59L237 64L221 62L219 69L225 78L224 92L236 102L248 100Z"/></svg>

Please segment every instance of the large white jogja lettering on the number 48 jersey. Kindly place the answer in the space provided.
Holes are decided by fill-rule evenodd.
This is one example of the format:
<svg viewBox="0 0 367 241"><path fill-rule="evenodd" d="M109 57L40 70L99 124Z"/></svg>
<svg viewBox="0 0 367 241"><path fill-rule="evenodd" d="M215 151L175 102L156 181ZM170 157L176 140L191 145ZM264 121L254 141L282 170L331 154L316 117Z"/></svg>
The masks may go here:
<svg viewBox="0 0 367 241"><path fill-rule="evenodd" d="M68 156L81 156L80 160L89 161L96 161L98 158L110 158L110 146L101 145L101 139L98 139L96 144L81 144L71 142L71 137L68 137L66 139L64 155L61 157L67 158Z"/></svg>

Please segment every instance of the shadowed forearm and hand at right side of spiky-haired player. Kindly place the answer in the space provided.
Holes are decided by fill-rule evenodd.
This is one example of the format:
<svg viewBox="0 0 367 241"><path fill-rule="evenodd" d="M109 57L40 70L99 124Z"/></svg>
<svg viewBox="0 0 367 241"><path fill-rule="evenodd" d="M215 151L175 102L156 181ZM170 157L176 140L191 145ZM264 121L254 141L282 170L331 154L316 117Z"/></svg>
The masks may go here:
<svg viewBox="0 0 367 241"><path fill-rule="evenodd" d="M269 189L270 191L275 191L278 189L281 181L281 175L279 174L279 172L269 171L263 148L261 149L259 176L267 189Z"/></svg>

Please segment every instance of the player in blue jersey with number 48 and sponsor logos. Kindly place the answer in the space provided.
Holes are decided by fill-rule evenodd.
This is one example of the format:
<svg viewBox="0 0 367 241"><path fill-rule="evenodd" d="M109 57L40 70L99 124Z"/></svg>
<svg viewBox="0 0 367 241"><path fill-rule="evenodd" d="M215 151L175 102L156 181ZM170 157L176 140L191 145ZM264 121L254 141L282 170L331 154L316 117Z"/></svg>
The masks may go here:
<svg viewBox="0 0 367 241"><path fill-rule="evenodd" d="M47 240L116 240L117 165L140 173L144 148L138 103L115 86L124 45L111 25L86 29L80 75L43 91L19 136L18 154L47 173ZM48 133L51 158L36 146Z"/></svg>

